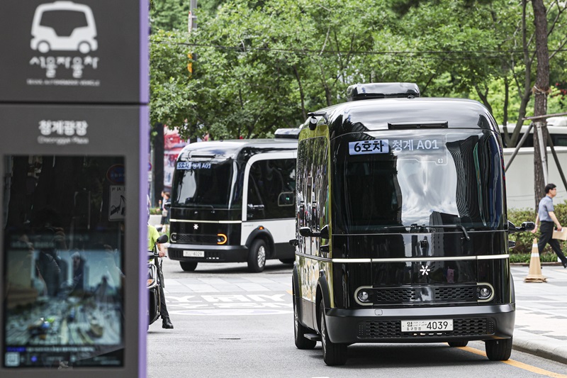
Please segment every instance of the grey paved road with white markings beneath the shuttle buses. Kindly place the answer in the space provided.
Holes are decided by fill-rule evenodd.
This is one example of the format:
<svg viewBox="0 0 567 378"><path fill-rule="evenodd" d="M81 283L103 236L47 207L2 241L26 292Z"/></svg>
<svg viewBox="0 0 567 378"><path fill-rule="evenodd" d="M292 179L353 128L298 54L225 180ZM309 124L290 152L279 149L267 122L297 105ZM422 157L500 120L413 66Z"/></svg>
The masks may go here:
<svg viewBox="0 0 567 378"><path fill-rule="evenodd" d="M356 344L349 346L347 365L327 367L320 345L293 345L289 265L269 262L252 274L244 264L209 264L189 273L166 260L164 272L175 328L150 326L148 377L567 378L567 365L517 350L507 363L491 362L481 342L466 348Z"/></svg>

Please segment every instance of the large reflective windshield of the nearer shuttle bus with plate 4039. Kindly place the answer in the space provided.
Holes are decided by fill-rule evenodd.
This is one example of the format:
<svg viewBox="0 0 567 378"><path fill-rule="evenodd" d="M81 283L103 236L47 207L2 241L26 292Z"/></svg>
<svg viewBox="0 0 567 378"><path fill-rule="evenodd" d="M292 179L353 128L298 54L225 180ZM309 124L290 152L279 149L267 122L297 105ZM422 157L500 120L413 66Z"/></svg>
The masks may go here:
<svg viewBox="0 0 567 378"><path fill-rule="evenodd" d="M333 143L333 233L504 227L503 167L489 130L352 133Z"/></svg>

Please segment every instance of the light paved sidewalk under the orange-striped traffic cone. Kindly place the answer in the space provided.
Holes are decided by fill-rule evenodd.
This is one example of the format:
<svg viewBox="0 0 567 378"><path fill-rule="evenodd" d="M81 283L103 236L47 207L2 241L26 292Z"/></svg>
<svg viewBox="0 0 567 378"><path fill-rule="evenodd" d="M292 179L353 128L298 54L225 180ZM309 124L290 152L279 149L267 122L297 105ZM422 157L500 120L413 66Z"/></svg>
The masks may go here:
<svg viewBox="0 0 567 378"><path fill-rule="evenodd" d="M547 282L526 283L529 267L511 267L516 288L512 348L567 364L567 269L561 265L542 268Z"/></svg>

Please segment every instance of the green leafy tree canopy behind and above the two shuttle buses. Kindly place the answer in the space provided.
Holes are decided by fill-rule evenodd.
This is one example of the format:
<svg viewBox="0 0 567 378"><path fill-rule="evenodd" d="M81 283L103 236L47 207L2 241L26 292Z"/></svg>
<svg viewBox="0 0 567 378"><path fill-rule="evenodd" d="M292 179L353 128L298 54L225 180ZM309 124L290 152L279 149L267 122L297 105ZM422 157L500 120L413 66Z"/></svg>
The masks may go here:
<svg viewBox="0 0 567 378"><path fill-rule="evenodd" d="M150 118L178 126L184 138L259 138L345 101L351 84L415 82L423 96L478 99L499 123L521 125L536 69L526 3L203 0L188 33L186 1L154 0ZM557 87L549 106L559 112L566 5L546 6Z"/></svg>

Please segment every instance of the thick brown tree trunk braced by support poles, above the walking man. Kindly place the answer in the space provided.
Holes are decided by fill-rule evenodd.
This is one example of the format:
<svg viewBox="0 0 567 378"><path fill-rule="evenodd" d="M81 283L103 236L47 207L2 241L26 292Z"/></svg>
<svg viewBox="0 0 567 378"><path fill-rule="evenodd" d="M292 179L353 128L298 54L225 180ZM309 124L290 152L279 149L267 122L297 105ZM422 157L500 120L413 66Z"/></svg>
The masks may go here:
<svg viewBox="0 0 567 378"><path fill-rule="evenodd" d="M534 93L534 116L544 116L547 113L547 94L549 93L549 52L547 49L547 18L544 0L532 0L534 8L534 25L536 27L536 56L537 74L536 84L532 88ZM547 167L543 166L547 155L547 129L545 118L536 118L534 122L534 200L535 205L544 196ZM538 128L541 128L542 139L539 140ZM540 146L544 152L541 159Z"/></svg>

